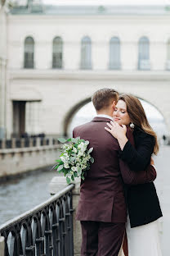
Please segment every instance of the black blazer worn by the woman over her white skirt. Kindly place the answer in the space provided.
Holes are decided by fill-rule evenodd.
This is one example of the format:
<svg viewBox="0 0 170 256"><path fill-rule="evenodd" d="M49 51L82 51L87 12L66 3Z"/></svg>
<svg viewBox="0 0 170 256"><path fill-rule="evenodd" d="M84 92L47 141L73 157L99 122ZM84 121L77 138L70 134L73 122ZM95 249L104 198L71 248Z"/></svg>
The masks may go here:
<svg viewBox="0 0 170 256"><path fill-rule="evenodd" d="M135 127L133 137L135 148L128 140L120 153L120 158L128 163L132 171L142 171L150 164L154 151L154 137L139 127ZM154 222L163 216L153 182L125 185L125 194L131 227Z"/></svg>

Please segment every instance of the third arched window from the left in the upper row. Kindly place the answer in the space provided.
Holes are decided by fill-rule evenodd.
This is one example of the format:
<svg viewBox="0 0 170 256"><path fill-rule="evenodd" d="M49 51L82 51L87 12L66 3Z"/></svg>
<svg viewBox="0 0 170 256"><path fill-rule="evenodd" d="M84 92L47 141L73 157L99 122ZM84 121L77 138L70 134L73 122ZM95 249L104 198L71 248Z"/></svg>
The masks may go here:
<svg viewBox="0 0 170 256"><path fill-rule="evenodd" d="M88 36L81 43L81 69L92 69L92 42Z"/></svg>

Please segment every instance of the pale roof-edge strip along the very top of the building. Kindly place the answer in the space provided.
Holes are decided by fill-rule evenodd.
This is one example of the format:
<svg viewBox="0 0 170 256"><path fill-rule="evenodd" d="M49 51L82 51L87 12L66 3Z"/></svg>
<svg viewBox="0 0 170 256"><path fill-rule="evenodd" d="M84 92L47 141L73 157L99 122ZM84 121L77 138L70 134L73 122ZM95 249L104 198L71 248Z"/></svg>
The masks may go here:
<svg viewBox="0 0 170 256"><path fill-rule="evenodd" d="M59 5L42 5L34 4L17 6L11 9L13 15L56 15L56 16L68 16L68 15L80 15L80 16L119 16L119 15L170 15L170 6L116 6L116 5L99 5L99 6L59 6Z"/></svg>

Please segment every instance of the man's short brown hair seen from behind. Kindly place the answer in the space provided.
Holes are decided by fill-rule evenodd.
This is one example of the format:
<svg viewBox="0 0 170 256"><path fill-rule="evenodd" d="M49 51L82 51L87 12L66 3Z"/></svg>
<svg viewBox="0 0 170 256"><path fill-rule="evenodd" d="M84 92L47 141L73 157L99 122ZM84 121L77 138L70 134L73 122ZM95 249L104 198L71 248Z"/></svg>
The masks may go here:
<svg viewBox="0 0 170 256"><path fill-rule="evenodd" d="M105 109L110 106L111 101L118 101L119 93L114 89L104 88L98 89L92 95L92 103L96 108L96 111Z"/></svg>

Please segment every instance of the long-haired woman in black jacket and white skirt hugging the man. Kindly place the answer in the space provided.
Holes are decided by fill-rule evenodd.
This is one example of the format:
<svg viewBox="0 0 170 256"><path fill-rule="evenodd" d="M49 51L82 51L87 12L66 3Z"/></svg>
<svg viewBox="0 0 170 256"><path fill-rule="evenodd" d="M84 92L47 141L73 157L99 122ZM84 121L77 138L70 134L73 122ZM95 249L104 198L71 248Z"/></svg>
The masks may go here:
<svg viewBox="0 0 170 256"><path fill-rule="evenodd" d="M138 98L121 95L114 109L114 122L108 126L110 129L105 130L119 141L119 157L128 163L131 171L145 170L152 153L158 153L159 145ZM133 126L135 148L126 136L127 126ZM126 199L129 256L161 256L158 219L163 215L154 183L126 185Z"/></svg>

